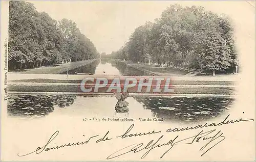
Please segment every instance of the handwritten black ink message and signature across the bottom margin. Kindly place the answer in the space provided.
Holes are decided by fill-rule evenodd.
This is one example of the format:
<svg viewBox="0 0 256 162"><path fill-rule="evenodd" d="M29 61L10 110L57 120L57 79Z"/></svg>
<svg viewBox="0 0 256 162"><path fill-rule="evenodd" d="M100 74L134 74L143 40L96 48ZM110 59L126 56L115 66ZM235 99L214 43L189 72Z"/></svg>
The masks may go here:
<svg viewBox="0 0 256 162"><path fill-rule="evenodd" d="M246 122L246 121L254 121L253 119L237 119L237 120L228 120L229 115L220 123L205 123L204 125L197 125L197 126L191 126L191 127L180 127L180 128L168 128L165 130L165 133L169 134L171 132L179 132L179 131L189 131L192 129L202 129L207 127L217 127L222 126L226 124L234 124L239 122ZM194 143L202 143L202 147L200 148L200 151L203 151L201 156L205 155L209 150L216 147L219 143L223 142L226 137L224 136L224 133L222 131L218 131L217 129L211 129L211 130L201 130L198 131L196 134L193 134L193 136L189 136L186 138L181 138L179 135L174 136L172 138L169 138L169 136L164 136L162 131L160 130L152 130L147 132L133 132L135 124L132 124L124 133L118 134L116 137L110 137L110 130L104 133L104 136L100 136L99 134L95 134L94 136L89 137L85 141L75 142L75 143L66 143L58 146L53 145L53 141L58 137L58 134L60 133L59 130L55 131L52 136L49 138L49 140L46 142L44 146L38 146L34 151L20 154L18 153L18 156L27 156L30 154L40 154L42 152L47 151L53 151L56 149L61 149L65 147L76 147L79 145L86 145L89 142L90 143L102 143L107 141L113 141L113 138L120 138L120 139L127 139L127 138L137 138L140 136L150 136L151 134L159 134L159 138L149 140L147 143L136 143L131 144L129 146L126 146L124 148L121 148L108 157L106 159L113 159L119 156L122 156L124 154L128 153L141 153L141 158L145 158L150 152L154 149L158 149L160 147L166 147L166 151L163 152L159 157L162 158L165 154L167 154L170 150L174 149L174 147L178 144L194 144ZM84 136L84 135L83 135ZM164 140L167 138L168 140Z"/></svg>

